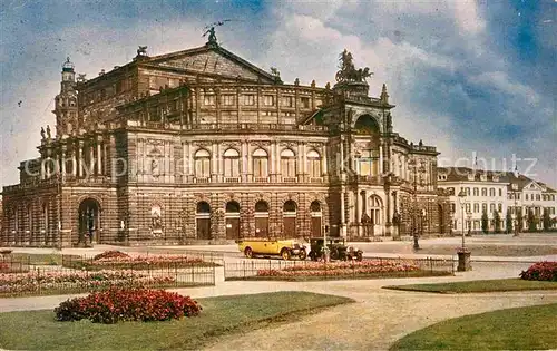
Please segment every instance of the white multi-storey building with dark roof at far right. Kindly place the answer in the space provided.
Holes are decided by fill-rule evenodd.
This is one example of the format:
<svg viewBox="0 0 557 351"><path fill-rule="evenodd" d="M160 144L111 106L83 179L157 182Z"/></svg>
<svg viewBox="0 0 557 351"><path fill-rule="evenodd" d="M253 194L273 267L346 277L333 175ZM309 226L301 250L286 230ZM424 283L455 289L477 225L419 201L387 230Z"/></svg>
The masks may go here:
<svg viewBox="0 0 557 351"><path fill-rule="evenodd" d="M439 187L450 194L452 231L541 231L556 228L557 192L516 172L440 167ZM461 193L462 192L462 193ZM459 196L461 194L461 196ZM462 196L463 195L463 196Z"/></svg>

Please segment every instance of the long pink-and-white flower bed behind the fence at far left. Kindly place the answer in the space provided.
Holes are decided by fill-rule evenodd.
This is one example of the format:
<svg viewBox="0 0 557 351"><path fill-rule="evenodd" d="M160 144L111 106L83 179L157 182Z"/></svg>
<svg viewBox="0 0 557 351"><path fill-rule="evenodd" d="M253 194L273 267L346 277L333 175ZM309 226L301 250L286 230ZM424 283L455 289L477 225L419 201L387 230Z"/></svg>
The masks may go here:
<svg viewBox="0 0 557 351"><path fill-rule="evenodd" d="M133 271L39 272L0 274L0 295L45 291L88 291L109 286L173 285L167 275L149 276Z"/></svg>

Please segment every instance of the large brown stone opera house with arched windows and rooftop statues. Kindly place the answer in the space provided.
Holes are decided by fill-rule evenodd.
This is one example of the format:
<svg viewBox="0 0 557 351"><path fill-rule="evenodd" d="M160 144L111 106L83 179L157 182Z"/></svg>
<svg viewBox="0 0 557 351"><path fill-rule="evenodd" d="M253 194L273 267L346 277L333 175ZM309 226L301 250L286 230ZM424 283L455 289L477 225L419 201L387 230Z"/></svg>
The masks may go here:
<svg viewBox="0 0 557 351"><path fill-rule="evenodd" d="M336 84L317 87L283 82L214 32L198 48L146 49L89 80L63 64L56 130L3 187L3 243L449 233L436 147L394 133L387 87L370 97L350 52Z"/></svg>

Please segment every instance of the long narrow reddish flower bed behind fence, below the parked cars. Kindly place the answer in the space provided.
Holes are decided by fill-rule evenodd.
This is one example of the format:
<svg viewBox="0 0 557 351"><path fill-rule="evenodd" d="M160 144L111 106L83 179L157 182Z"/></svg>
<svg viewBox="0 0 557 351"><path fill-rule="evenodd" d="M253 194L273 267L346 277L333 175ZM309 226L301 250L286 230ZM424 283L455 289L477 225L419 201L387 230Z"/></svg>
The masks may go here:
<svg viewBox="0 0 557 351"><path fill-rule="evenodd" d="M311 262L286 266L281 270L258 270L257 276L340 276L413 271L419 271L419 267L413 264L393 261L370 260L361 262Z"/></svg>

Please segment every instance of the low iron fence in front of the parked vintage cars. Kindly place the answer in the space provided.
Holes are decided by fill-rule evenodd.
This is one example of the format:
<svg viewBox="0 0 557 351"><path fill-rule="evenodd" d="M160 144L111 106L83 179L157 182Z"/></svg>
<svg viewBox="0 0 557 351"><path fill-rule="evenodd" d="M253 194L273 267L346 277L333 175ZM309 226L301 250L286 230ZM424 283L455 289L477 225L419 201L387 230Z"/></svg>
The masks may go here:
<svg viewBox="0 0 557 351"><path fill-rule="evenodd" d="M226 262L224 279L231 280L334 280L434 276L455 274L452 259L367 257L362 262L243 260Z"/></svg>

